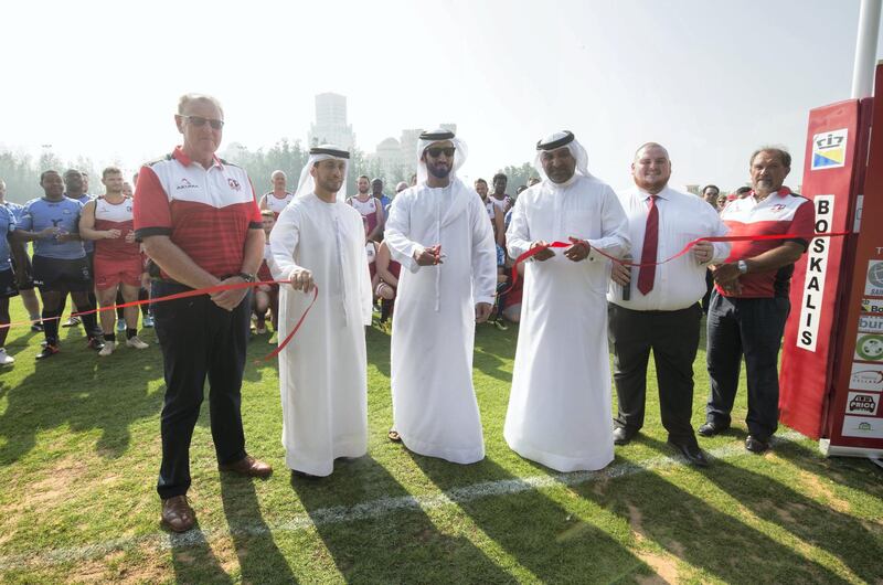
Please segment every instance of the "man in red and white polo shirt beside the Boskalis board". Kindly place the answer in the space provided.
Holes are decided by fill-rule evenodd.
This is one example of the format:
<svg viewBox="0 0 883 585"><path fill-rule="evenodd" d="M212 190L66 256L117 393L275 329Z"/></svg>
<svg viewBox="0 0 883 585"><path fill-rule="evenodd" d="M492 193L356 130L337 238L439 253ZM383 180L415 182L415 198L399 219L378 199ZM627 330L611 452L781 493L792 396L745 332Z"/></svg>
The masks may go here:
<svg viewBox="0 0 883 585"><path fill-rule="evenodd" d="M732 201L721 220L730 235L794 234L792 240L733 242L726 263L714 269L715 290L708 322L711 396L699 434L711 437L730 426L742 355L748 381L745 448L764 453L778 426L778 354L790 310L794 263L813 232L812 202L784 187L791 157L779 148L752 155L753 190Z"/></svg>

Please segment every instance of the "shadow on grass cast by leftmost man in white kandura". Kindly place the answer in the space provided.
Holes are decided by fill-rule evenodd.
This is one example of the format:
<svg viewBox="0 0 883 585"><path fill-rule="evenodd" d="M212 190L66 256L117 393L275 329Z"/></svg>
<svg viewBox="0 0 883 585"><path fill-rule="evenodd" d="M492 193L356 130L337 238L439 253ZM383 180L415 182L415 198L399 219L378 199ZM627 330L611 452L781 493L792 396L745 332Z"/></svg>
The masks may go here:
<svg viewBox="0 0 883 585"><path fill-rule="evenodd" d="M371 457L338 460L327 478L292 476L291 488L348 583L515 582L469 540L443 533L419 508L384 510L409 494Z"/></svg>

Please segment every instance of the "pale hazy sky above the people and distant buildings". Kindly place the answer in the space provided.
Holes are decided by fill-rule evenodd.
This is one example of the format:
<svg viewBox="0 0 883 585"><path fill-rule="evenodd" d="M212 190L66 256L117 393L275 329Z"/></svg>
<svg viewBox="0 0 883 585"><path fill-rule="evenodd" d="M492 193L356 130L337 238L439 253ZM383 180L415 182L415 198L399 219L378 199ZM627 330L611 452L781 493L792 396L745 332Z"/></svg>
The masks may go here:
<svg viewBox="0 0 883 585"><path fill-rule="evenodd" d="M471 177L566 128L617 188L648 140L672 184L724 188L783 143L797 185L809 109L849 97L858 18L859 0L13 2L0 147L134 169L177 143L190 91L222 100L227 143L306 142L315 95L336 92L369 152L456 123Z"/></svg>

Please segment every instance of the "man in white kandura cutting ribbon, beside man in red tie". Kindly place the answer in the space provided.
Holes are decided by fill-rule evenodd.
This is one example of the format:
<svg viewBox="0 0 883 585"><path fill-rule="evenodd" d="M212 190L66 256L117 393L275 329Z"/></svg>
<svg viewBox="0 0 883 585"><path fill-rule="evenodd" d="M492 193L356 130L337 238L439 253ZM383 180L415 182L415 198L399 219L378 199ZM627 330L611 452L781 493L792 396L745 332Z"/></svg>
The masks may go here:
<svg viewBox="0 0 883 585"><path fill-rule="evenodd" d="M588 173L568 131L536 145L543 180L515 201L509 255L540 247L524 272L521 330L503 435L522 457L558 471L602 469L614 459L607 353L609 264L621 257L628 220L607 184ZM552 242L571 242L556 253Z"/></svg>

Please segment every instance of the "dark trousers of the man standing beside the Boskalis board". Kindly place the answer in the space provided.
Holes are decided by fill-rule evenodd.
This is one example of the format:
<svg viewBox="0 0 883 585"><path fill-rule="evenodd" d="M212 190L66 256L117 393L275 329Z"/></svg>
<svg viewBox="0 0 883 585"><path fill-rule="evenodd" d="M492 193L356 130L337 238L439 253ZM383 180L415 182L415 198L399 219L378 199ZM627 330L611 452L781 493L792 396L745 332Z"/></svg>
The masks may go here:
<svg viewBox="0 0 883 585"><path fill-rule="evenodd" d="M712 294L708 322L711 379L705 407L708 422L730 426L744 354L748 432L760 440L767 440L776 432L779 347L790 307L786 297L742 299L724 297L716 290Z"/></svg>

